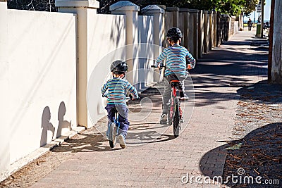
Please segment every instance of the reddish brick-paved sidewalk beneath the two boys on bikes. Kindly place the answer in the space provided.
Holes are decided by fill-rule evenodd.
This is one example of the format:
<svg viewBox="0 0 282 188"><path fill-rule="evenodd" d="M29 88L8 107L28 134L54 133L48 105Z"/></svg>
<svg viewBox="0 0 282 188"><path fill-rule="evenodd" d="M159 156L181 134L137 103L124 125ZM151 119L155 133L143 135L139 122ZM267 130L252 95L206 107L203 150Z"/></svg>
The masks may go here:
<svg viewBox="0 0 282 188"><path fill-rule="evenodd" d="M74 140L63 144L69 144L70 152L76 153L32 187L225 187L183 184L181 179L186 181L182 177L187 174L222 175L226 151L216 148L231 137L237 90L242 84L266 79L265 62L258 54L266 51L250 46L253 35L239 32L204 55L191 71L195 108L188 127L178 138L174 139L171 127L157 124L161 102L156 92L152 95L153 112L145 120L132 122L127 149L109 149L104 137L95 136L93 129L86 130L80 136L94 139L80 145ZM210 151L212 154L207 155Z"/></svg>

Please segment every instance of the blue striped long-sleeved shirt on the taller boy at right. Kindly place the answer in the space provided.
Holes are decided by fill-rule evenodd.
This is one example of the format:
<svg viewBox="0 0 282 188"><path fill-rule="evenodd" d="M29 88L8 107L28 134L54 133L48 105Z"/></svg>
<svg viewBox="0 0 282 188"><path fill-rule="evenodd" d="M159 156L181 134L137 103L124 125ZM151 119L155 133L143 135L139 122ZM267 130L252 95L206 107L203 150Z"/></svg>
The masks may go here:
<svg viewBox="0 0 282 188"><path fill-rule="evenodd" d="M192 57L188 49L185 49L185 47L178 44L173 44L173 46L168 46L168 48L164 49L154 63L154 66L157 67L165 58L165 76L171 75L172 73L185 75L187 69L186 58L188 60L188 65L190 64L191 68L195 67L195 58Z"/></svg>

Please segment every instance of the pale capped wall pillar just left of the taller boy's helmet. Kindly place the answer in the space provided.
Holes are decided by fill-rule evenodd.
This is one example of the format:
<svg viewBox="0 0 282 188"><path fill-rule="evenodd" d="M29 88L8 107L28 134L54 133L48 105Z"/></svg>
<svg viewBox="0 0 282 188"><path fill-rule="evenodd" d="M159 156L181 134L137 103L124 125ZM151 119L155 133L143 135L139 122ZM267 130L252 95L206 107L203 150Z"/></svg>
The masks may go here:
<svg viewBox="0 0 282 188"><path fill-rule="evenodd" d="M149 5L141 10L143 15L153 16L153 31L154 31L154 59L161 54L162 44L165 37L164 33L164 9L157 5ZM158 47L159 46L159 47ZM154 82L159 81L159 71L154 74Z"/></svg>

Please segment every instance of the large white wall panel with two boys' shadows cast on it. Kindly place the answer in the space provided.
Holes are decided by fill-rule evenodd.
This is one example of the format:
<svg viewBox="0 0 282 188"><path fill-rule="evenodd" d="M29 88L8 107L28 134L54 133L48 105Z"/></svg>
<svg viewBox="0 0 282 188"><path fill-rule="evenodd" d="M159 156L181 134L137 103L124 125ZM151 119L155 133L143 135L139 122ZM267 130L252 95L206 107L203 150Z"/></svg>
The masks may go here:
<svg viewBox="0 0 282 188"><path fill-rule="evenodd" d="M4 12L1 6L0 17ZM7 135L3 129L10 135L8 148L0 142L0 156L11 164L76 126L76 35L73 14L6 13L6 23L0 20L8 33L6 42L0 40L0 49L6 43L0 82L8 97L0 107L6 122L0 137ZM0 180L6 170L0 169Z"/></svg>

